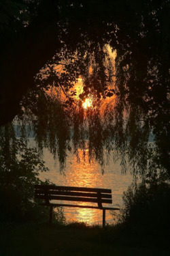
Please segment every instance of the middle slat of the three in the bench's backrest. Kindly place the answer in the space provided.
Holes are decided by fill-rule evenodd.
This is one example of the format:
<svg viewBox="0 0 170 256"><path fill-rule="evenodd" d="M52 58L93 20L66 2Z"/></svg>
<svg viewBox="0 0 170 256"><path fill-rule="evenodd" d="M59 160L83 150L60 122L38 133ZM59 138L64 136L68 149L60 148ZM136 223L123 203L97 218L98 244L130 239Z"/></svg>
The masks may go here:
<svg viewBox="0 0 170 256"><path fill-rule="evenodd" d="M84 192L71 192L71 191L57 191L57 190L44 190L44 189L35 189L35 195L69 195L71 197L101 197L112 199L112 194L103 194L98 195L97 193L84 193Z"/></svg>

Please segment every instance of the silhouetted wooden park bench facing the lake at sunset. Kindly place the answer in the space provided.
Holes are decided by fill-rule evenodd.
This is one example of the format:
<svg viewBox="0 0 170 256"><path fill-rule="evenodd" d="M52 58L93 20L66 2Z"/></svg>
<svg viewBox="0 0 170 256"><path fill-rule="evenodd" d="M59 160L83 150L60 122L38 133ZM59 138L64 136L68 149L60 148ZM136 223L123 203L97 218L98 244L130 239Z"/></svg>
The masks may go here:
<svg viewBox="0 0 170 256"><path fill-rule="evenodd" d="M103 210L103 227L105 227L105 210L120 210L103 207L103 203L112 203L112 190L107 188L35 185L35 199L44 199L44 202L40 204L50 206L50 224L52 223L52 208L57 206ZM52 200L87 202L95 205L52 203Z"/></svg>

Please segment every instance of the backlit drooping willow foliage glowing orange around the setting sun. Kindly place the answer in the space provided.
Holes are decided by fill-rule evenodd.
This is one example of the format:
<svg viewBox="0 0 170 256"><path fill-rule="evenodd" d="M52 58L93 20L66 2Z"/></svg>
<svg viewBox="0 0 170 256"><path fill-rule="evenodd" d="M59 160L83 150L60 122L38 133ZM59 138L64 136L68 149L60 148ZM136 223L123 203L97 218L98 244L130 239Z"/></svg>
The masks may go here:
<svg viewBox="0 0 170 256"><path fill-rule="evenodd" d="M160 158L163 148L166 151L169 147L165 143L165 137L168 139L167 128L158 124L160 131L165 131L164 138L158 139L160 133L155 137L156 143L160 141L159 146L148 143L150 132L154 132L151 111L147 112L137 104L131 105L129 100L124 102L124 93L116 84L119 77L113 76L115 61L109 49L105 47L105 51L97 50L98 55L101 53L100 59L104 59L103 64L97 63L95 53L92 55L90 48L86 52L85 47L84 54L79 57L76 52L67 53L67 49L63 49L37 75L37 89L30 91L22 100L26 117L18 116L18 124L23 127L27 122L30 123L39 149L48 147L54 158L58 157L61 169L65 167L67 150L72 149L78 156L79 148L85 154L88 147L89 161L96 160L102 169L106 153L108 158L112 154L114 160L121 159L124 172L130 169L126 165L129 162L134 177L138 174L143 177L151 169L166 172L168 166L163 165ZM103 71L96 66L103 68ZM73 74L74 70L76 74ZM79 77L83 84L82 93L76 89ZM92 107L84 110L82 102L87 97L92 98ZM167 117L167 126L166 120ZM166 154L164 159L167 159Z"/></svg>

